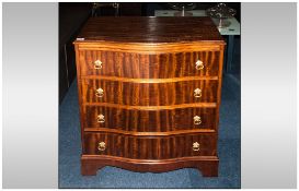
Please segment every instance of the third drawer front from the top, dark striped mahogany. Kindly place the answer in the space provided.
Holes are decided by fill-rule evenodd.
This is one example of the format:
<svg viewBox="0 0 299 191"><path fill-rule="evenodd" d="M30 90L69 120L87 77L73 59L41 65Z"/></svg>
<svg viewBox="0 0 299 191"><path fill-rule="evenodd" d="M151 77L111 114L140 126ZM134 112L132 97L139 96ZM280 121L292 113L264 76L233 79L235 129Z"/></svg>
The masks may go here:
<svg viewBox="0 0 299 191"><path fill-rule="evenodd" d="M136 110L85 106L85 128L107 128L134 132L166 132L214 129L216 108Z"/></svg>

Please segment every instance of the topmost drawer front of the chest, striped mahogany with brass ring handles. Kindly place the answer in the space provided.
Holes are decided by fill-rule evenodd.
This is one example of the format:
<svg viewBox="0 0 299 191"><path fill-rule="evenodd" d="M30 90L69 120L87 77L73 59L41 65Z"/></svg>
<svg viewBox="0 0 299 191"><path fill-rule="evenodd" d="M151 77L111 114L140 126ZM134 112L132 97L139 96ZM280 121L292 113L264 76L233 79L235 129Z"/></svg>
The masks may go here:
<svg viewBox="0 0 299 191"><path fill-rule="evenodd" d="M81 75L129 79L218 76L220 58L220 51L143 55L83 50L79 53Z"/></svg>

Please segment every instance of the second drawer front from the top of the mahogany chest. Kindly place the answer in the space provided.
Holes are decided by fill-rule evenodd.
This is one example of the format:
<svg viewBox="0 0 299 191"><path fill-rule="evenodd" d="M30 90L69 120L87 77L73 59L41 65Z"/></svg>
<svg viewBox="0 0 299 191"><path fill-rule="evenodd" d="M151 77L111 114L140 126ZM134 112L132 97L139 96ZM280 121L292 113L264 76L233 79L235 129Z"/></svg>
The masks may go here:
<svg viewBox="0 0 299 191"><path fill-rule="evenodd" d="M216 103L218 81L182 81L170 83L131 83L85 80L83 103L111 103L130 106L168 106L192 103Z"/></svg>

